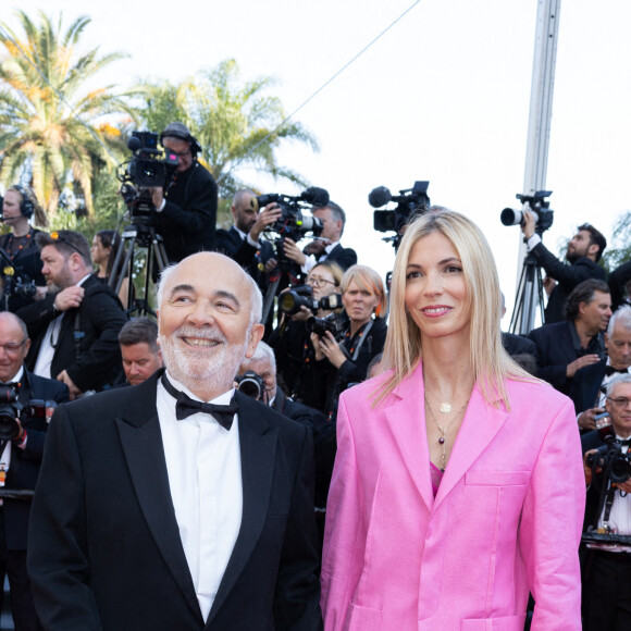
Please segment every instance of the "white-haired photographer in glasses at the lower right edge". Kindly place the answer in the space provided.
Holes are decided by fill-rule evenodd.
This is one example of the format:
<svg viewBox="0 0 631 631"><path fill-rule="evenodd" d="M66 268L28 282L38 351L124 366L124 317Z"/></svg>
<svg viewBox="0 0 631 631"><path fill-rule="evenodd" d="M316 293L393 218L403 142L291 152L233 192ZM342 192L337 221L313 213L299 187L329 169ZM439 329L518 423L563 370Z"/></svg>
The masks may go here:
<svg viewBox="0 0 631 631"><path fill-rule="evenodd" d="M631 375L616 376L607 384L605 407L611 418L614 441L620 446L620 455L628 458ZM604 534L631 535L631 480L613 483L607 472L599 469L592 479L589 456L606 443L598 431L583 435L581 443L589 485L584 530L591 527ZM614 542L590 543L587 547L583 567L583 630L631 629L631 547Z"/></svg>

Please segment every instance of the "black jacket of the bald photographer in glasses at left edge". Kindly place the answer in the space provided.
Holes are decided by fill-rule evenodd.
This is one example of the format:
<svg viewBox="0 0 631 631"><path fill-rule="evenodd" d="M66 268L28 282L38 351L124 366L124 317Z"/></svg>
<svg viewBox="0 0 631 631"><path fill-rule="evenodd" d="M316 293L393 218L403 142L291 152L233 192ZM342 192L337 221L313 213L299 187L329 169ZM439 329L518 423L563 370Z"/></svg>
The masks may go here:
<svg viewBox="0 0 631 631"><path fill-rule="evenodd" d="M17 400L26 405L30 399L53 400L63 404L69 400L67 386L60 381L44 379L25 371L20 382ZM11 444L11 465L7 473L5 488L33 491L44 454L46 421L26 421L26 446L21 449ZM4 499L4 539L8 549L26 549L30 499Z"/></svg>

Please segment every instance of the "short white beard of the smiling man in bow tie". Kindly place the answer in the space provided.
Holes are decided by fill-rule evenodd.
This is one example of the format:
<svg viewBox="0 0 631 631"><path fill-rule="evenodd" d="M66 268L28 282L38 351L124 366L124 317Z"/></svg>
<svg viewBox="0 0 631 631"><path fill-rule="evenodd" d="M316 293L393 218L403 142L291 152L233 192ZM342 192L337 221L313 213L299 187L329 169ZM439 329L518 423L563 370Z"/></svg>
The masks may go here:
<svg viewBox="0 0 631 631"><path fill-rule="evenodd" d="M197 382L203 381L205 386L214 392L227 392L233 387L238 367L245 359L249 329L243 346L228 345L223 333L215 326L203 329L181 326L171 337L159 336L164 366L181 384L194 389ZM206 337L219 341L221 344L210 356L202 356L195 347L183 347L178 337ZM206 349L200 349L206 350Z"/></svg>

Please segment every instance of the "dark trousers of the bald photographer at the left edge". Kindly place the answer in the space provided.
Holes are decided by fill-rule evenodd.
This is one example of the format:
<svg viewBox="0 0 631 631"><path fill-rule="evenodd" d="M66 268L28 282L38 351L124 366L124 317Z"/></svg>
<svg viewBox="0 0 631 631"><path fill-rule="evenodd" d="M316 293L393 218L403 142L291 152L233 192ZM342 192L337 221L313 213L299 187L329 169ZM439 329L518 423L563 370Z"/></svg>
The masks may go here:
<svg viewBox="0 0 631 631"><path fill-rule="evenodd" d="M15 631L42 631L44 628L35 613L30 581L26 573L26 550L7 549L4 509L0 506L0 585L4 583L5 574L9 577L11 615Z"/></svg>

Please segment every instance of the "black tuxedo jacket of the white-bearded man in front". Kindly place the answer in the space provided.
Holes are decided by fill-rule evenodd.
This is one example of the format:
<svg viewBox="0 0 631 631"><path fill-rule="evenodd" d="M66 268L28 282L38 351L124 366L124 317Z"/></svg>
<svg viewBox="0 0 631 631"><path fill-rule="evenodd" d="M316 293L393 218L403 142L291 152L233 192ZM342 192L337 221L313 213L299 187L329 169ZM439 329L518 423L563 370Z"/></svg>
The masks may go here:
<svg viewBox="0 0 631 631"><path fill-rule="evenodd" d="M205 624L171 500L157 379L52 419L28 548L44 627L320 629L309 432L237 392L243 519Z"/></svg>

